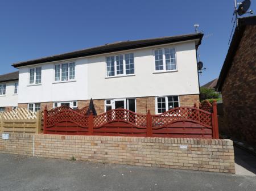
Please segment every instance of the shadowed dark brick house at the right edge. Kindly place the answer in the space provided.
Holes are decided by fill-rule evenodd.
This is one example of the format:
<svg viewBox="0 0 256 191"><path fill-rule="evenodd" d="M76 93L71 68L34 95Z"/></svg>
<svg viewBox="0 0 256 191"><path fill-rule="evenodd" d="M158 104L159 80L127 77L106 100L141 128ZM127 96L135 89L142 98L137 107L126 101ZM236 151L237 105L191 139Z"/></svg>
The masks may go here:
<svg viewBox="0 0 256 191"><path fill-rule="evenodd" d="M220 77L224 120L220 130L256 145L256 16L238 19Z"/></svg>

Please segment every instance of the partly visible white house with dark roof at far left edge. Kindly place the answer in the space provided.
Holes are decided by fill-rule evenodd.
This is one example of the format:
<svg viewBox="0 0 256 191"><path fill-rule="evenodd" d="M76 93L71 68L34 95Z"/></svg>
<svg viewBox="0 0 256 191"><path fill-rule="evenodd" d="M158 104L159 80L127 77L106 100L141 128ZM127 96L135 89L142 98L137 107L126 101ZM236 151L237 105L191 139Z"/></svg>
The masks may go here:
<svg viewBox="0 0 256 191"><path fill-rule="evenodd" d="M0 112L18 107L19 72L0 75Z"/></svg>

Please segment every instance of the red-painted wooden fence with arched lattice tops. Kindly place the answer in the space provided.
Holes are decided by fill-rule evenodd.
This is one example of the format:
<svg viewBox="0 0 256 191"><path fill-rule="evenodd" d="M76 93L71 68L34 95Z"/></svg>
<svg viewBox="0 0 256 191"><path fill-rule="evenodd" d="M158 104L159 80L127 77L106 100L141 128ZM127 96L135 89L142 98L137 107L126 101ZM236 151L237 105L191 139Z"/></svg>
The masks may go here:
<svg viewBox="0 0 256 191"><path fill-rule="evenodd" d="M44 109L45 134L113 135L139 137L218 138L217 104L212 112L179 107L162 114L138 114L113 109L98 116L85 116L71 108Z"/></svg>

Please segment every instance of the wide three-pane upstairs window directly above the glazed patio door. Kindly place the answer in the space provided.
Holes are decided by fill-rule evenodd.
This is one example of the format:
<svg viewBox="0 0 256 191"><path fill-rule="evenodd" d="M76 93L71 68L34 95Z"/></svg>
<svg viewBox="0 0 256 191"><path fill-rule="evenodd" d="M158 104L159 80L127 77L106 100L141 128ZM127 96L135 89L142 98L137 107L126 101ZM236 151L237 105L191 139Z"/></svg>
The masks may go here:
<svg viewBox="0 0 256 191"><path fill-rule="evenodd" d="M134 74L134 55L119 54L106 57L106 76L114 77Z"/></svg>

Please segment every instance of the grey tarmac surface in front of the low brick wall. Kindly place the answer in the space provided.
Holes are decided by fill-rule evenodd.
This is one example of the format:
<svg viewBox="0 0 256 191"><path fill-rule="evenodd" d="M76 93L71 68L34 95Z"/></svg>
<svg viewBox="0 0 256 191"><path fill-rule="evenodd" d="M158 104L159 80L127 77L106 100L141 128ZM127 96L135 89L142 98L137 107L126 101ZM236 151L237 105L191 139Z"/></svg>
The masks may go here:
<svg viewBox="0 0 256 191"><path fill-rule="evenodd" d="M254 191L256 177L0 154L0 190Z"/></svg>

